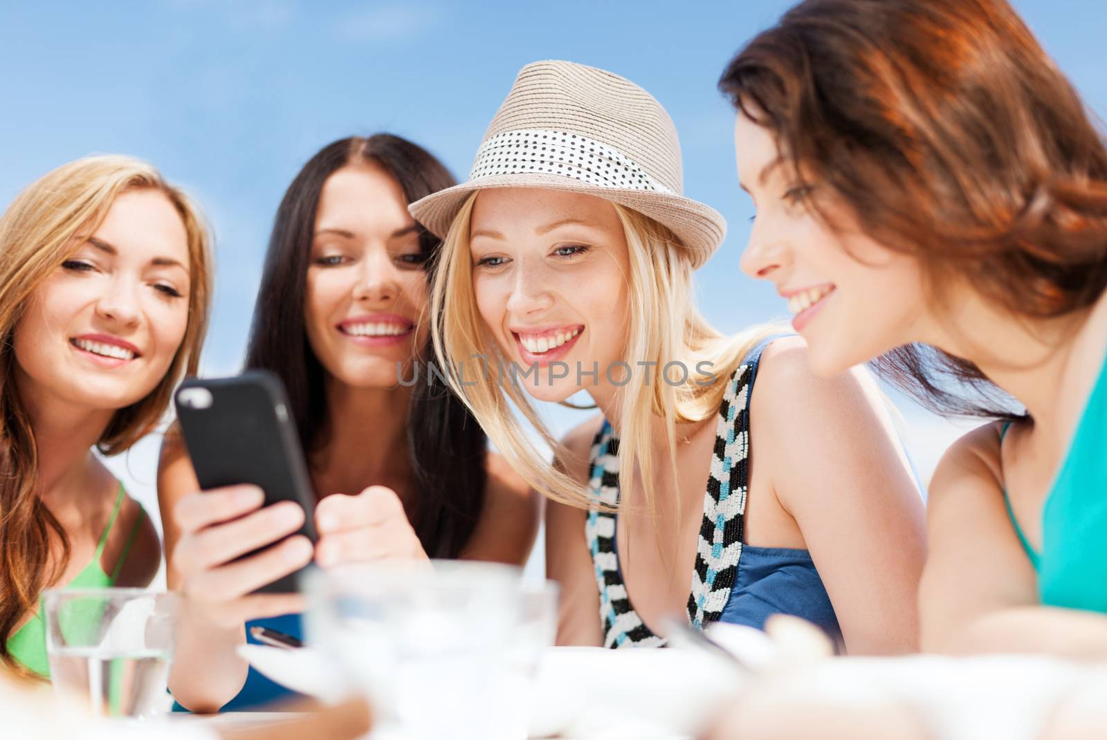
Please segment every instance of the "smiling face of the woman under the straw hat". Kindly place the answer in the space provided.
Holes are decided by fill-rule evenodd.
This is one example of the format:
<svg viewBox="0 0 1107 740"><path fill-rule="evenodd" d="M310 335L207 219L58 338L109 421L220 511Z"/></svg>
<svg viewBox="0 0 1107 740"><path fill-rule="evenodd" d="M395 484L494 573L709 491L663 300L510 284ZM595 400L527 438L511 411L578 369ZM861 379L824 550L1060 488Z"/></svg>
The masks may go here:
<svg viewBox="0 0 1107 740"><path fill-rule="evenodd" d="M610 388L623 361L630 272L622 222L608 201L530 188L482 190L469 221L477 310L505 357L534 375L519 384L540 400ZM565 363L565 372L552 363ZM598 366L599 376L582 375ZM614 379L619 381L618 368Z"/></svg>

